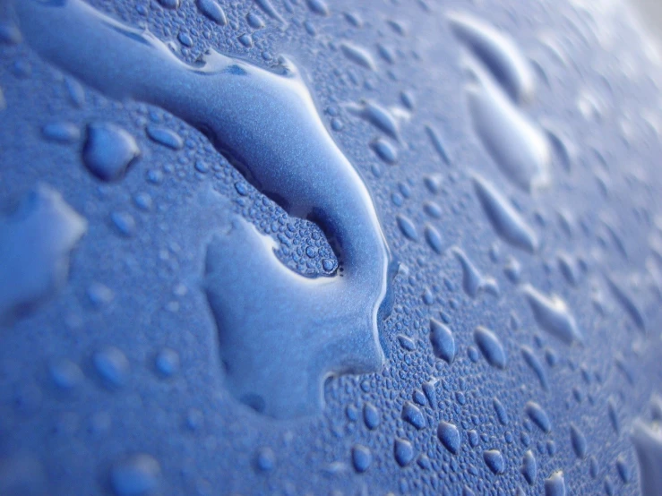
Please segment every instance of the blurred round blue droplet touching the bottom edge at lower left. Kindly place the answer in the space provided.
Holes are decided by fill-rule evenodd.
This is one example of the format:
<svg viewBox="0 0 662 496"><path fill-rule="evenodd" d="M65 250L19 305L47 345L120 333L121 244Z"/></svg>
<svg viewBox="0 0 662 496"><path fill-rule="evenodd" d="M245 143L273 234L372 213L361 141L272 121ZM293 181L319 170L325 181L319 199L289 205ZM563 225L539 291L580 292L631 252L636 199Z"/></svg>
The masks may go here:
<svg viewBox="0 0 662 496"><path fill-rule="evenodd" d="M117 462L110 470L110 485L117 496L142 496L157 490L160 478L159 462L139 453Z"/></svg>

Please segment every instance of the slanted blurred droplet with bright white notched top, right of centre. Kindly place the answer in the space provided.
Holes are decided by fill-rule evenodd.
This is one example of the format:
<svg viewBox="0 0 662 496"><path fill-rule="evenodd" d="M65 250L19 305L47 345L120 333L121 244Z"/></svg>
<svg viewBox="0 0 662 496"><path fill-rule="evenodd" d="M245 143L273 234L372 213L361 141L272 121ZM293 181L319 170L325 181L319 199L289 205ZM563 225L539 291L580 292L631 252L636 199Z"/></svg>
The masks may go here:
<svg viewBox="0 0 662 496"><path fill-rule="evenodd" d="M580 329L568 310L568 306L556 295L547 297L530 285L523 287L537 324L546 332L569 345L572 341L582 341Z"/></svg>

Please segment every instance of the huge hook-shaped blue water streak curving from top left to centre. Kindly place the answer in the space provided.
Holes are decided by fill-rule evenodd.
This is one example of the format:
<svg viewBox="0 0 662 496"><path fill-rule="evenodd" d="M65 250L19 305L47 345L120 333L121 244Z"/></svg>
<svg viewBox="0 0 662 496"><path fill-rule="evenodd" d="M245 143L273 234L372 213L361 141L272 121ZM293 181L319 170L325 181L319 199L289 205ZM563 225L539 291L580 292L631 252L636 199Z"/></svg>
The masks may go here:
<svg viewBox="0 0 662 496"><path fill-rule="evenodd" d="M257 4L280 20L271 2ZM322 404L324 376L381 368L377 321L380 309L388 312L388 248L365 184L293 64L283 59L271 72L217 52L185 64L149 31L81 0L13 8L39 55L109 97L149 103L193 125L257 189L335 241L343 277L311 279L283 267L271 238L238 219L212 239L205 286L236 398L267 415L312 414ZM370 115L382 123L378 111ZM168 129L150 126L147 133L181 146ZM114 222L125 231L126 223Z"/></svg>

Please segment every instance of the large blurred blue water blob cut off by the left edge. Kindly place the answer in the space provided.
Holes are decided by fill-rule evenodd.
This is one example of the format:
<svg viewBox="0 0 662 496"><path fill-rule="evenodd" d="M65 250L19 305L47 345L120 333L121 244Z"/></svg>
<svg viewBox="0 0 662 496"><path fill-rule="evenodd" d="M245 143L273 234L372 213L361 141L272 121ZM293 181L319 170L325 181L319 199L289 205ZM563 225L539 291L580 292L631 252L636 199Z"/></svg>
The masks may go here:
<svg viewBox="0 0 662 496"><path fill-rule="evenodd" d="M66 282L69 253L87 229L62 196L39 184L11 216L0 219L0 321L13 320Z"/></svg>

